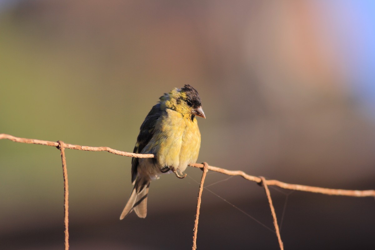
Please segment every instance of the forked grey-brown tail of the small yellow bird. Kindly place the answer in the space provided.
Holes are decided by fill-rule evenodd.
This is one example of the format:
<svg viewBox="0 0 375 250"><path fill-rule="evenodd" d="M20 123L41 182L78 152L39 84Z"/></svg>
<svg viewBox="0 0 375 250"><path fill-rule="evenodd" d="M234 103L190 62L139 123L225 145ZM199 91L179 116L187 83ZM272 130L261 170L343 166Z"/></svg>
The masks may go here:
<svg viewBox="0 0 375 250"><path fill-rule="evenodd" d="M150 180L139 179L135 181L129 201L121 213L120 220L124 219L133 210L139 218L145 218L147 214L147 195L150 187Z"/></svg>

